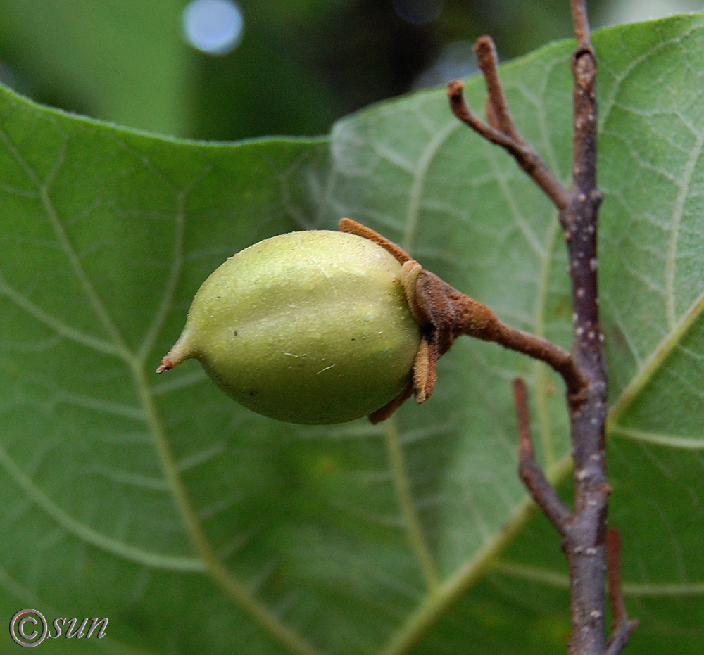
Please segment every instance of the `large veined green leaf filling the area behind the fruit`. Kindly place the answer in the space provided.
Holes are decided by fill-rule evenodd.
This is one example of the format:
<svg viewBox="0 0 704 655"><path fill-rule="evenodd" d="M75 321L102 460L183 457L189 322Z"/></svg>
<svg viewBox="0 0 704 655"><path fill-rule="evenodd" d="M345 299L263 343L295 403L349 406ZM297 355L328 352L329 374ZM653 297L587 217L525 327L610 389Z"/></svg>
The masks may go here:
<svg viewBox="0 0 704 655"><path fill-rule="evenodd" d="M632 653L698 652L704 438L704 18L595 35L612 523ZM524 132L570 172L570 44L506 65ZM482 82L467 87L475 107ZM329 140L222 146L0 98L0 595L109 618L54 652L561 653L559 539L515 474L529 381L556 483L560 381L469 339L426 405L302 428L234 405L194 362L153 371L228 255L349 215L507 322L570 343L555 212L441 90ZM566 491L567 492L567 491ZM16 651L8 633L0 649Z"/></svg>

